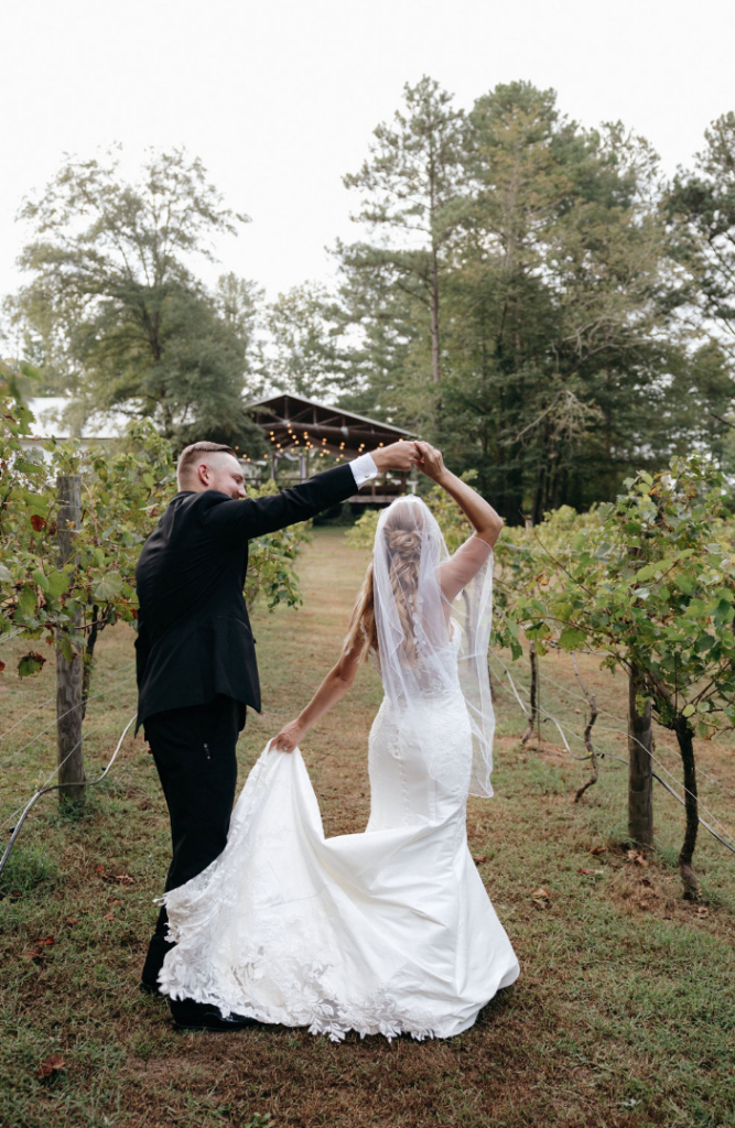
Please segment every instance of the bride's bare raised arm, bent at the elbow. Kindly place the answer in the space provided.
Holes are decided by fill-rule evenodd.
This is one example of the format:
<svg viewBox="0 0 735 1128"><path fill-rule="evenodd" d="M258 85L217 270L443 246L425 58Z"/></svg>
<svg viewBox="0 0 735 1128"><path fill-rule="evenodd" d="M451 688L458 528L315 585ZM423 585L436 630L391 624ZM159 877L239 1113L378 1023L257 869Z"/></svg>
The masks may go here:
<svg viewBox="0 0 735 1128"><path fill-rule="evenodd" d="M474 528L472 536L439 570L441 592L452 602L487 562L500 536L502 518L472 486L446 468L438 450L428 442L417 442L415 446L422 456L419 469L454 497Z"/></svg>

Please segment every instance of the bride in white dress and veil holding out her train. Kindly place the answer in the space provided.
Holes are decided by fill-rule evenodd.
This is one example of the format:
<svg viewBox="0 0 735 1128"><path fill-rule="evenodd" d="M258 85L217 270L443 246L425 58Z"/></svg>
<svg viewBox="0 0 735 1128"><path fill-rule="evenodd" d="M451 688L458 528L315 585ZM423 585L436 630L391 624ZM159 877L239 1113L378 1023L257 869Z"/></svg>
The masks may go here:
<svg viewBox="0 0 735 1128"><path fill-rule="evenodd" d="M159 982L174 999L334 1040L448 1038L518 976L465 829L467 794L492 794L487 653L502 522L417 446L475 531L448 556L418 497L380 513L340 660L262 752L224 853L164 897L176 945ZM364 834L325 838L298 744L368 656L385 691L370 818Z"/></svg>

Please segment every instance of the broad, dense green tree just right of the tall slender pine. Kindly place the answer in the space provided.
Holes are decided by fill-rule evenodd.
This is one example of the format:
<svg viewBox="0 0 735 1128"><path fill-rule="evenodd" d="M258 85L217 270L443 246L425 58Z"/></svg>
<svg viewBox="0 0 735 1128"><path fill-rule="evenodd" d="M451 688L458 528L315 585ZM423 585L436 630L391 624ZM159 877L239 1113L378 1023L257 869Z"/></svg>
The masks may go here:
<svg viewBox="0 0 735 1128"><path fill-rule="evenodd" d="M509 522L539 521L610 496L653 452L641 421L651 400L662 415L674 351L662 338L656 159L619 124L581 130L552 90L523 82L478 99L469 143L441 440Z"/></svg>

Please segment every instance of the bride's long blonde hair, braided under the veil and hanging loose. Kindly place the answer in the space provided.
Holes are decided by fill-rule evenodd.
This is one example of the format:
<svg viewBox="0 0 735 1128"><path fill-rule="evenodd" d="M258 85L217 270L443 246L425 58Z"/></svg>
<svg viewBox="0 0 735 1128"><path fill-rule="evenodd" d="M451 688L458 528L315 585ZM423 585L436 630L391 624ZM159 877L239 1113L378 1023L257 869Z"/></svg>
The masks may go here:
<svg viewBox="0 0 735 1128"><path fill-rule="evenodd" d="M410 666L415 666L419 660L413 617L419 587L422 532L423 514L420 510L417 511L414 506L409 508L400 504L392 506L384 526L385 546L388 553L388 576L403 631L401 646ZM373 572L374 564L370 561L352 608L350 626L343 645L344 653L351 652L358 664L366 661L370 650L374 650L379 658Z"/></svg>

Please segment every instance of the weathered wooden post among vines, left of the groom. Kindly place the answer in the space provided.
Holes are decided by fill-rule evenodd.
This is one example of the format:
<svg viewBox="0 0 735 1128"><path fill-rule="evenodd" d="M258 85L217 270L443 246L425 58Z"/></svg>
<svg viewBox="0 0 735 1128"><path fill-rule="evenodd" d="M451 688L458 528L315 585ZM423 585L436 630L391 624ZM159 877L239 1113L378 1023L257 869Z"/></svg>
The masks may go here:
<svg viewBox="0 0 735 1128"><path fill-rule="evenodd" d="M59 496L59 566L68 564L75 555L75 530L81 525L81 479L78 474L62 474L56 478ZM81 610L73 615L75 627L81 626ZM81 750L81 655L71 662L56 645L56 748L59 764L59 802L62 807L85 801L85 763Z"/></svg>

